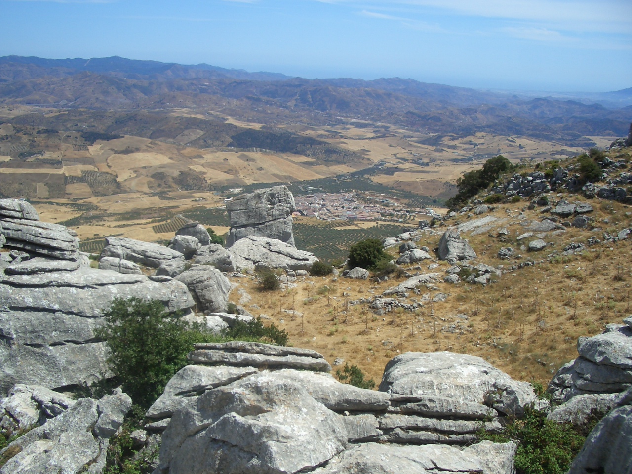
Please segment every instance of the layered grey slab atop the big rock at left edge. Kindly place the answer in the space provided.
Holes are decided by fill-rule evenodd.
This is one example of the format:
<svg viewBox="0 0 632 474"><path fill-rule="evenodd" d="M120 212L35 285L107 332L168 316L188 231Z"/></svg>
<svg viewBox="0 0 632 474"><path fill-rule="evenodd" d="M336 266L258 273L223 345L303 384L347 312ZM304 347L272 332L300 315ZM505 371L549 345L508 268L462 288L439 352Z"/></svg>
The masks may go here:
<svg viewBox="0 0 632 474"><path fill-rule="evenodd" d="M49 258L78 260L76 233L59 224L6 217L2 221L4 246Z"/></svg>

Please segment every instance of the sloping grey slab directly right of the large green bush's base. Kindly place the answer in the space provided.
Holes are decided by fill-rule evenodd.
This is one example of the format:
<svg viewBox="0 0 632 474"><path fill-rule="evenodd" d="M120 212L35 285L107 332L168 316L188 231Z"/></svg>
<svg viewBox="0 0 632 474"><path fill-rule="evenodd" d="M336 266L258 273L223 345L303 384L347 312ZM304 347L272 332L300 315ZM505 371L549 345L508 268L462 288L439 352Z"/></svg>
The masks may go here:
<svg viewBox="0 0 632 474"><path fill-rule="evenodd" d="M149 418L172 416L174 411L184 406L185 399L191 403L192 399L197 399L200 394L207 390L231 384L235 380L243 379L243 377L257 372L257 368L254 367L187 365L171 377L164 392L149 407L145 416Z"/></svg>

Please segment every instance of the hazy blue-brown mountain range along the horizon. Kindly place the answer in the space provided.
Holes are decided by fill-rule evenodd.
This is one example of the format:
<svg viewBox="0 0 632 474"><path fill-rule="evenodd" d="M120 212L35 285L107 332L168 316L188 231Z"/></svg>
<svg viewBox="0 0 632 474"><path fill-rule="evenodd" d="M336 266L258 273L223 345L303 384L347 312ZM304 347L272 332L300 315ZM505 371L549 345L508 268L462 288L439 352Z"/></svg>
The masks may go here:
<svg viewBox="0 0 632 474"><path fill-rule="evenodd" d="M0 102L85 109L202 108L267 125L344 119L468 136L477 131L587 146L627 135L632 88L605 94L498 92L412 79L308 80L210 66L93 59L0 58ZM584 96L584 97L582 97ZM356 123L357 125L357 123Z"/></svg>

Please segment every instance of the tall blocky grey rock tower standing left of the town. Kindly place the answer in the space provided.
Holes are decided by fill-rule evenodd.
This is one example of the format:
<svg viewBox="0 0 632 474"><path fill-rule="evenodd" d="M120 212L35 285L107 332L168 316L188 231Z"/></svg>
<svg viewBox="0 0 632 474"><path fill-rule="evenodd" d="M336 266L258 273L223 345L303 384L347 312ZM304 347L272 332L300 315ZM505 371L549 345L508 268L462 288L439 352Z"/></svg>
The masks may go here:
<svg viewBox="0 0 632 474"><path fill-rule="evenodd" d="M295 203L286 186L237 196L226 204L226 210L231 220L227 247L246 236L267 237L294 246L292 212L295 211Z"/></svg>

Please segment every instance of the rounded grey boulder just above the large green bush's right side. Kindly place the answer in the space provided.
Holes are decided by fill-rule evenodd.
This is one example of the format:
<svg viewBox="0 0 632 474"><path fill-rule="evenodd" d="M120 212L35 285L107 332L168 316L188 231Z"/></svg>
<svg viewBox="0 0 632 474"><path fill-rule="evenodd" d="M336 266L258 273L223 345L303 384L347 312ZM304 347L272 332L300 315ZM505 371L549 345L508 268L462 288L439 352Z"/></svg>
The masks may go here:
<svg viewBox="0 0 632 474"><path fill-rule="evenodd" d="M224 312L228 308L231 283L215 267L194 264L175 280L186 285L201 311Z"/></svg>

